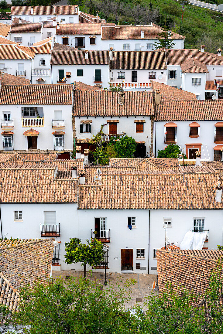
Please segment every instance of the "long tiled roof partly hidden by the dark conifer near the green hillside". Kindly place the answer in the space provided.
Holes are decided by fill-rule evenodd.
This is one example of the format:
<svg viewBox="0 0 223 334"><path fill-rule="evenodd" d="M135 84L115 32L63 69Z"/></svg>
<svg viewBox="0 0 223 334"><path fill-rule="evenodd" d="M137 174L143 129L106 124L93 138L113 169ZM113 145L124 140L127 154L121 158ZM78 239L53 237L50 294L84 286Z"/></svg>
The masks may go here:
<svg viewBox="0 0 223 334"><path fill-rule="evenodd" d="M141 31L144 32L144 38L141 38ZM158 28L151 25L143 26L131 26L131 25L118 25L115 27L102 27L102 40L157 40L160 38L158 33L162 32L162 28ZM185 36L179 35L175 32L172 33L172 39L185 39Z"/></svg>

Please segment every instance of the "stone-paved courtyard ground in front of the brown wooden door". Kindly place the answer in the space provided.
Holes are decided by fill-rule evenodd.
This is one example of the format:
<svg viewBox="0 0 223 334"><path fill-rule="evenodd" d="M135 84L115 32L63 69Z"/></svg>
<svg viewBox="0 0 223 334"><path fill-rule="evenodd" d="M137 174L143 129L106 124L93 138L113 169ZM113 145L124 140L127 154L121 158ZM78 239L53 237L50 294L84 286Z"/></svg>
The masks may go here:
<svg viewBox="0 0 223 334"><path fill-rule="evenodd" d="M74 277L83 277L84 272L82 271L53 271L53 278L56 277L66 277L66 276L74 276ZM137 284L132 287L132 296L131 300L126 303L125 307L129 308L135 304L139 304L145 311L144 306L144 297L149 295L152 291L152 282L157 280L157 275L146 275L146 274L133 274L133 273L107 273L107 286L104 286L104 273L90 273L87 272L87 277L91 280L98 280L99 283L103 286L104 289L109 289L109 286L112 284L113 287L116 287L117 281L120 282L120 277L122 277L122 281L124 282L127 279L134 279ZM120 286L123 287L123 283L120 282ZM158 289L155 288L155 291L158 292Z"/></svg>

